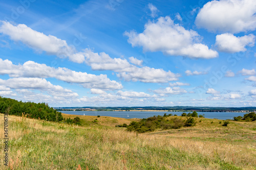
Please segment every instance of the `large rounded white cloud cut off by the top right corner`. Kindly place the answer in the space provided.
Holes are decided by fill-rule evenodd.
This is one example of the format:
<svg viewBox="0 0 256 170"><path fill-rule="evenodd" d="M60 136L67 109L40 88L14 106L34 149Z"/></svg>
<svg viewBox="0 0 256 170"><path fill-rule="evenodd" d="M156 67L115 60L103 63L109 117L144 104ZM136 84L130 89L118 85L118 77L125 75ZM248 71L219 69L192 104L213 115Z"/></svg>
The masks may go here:
<svg viewBox="0 0 256 170"><path fill-rule="evenodd" d="M220 0L203 6L196 17L196 25L213 32L239 33L256 28L256 1Z"/></svg>

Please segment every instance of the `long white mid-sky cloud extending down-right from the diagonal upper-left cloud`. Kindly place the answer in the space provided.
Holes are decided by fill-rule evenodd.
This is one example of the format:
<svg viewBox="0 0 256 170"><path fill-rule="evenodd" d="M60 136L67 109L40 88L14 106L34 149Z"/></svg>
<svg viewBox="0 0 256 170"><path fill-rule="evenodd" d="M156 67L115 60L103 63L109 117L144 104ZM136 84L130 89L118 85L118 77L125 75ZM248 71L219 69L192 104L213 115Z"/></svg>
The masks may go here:
<svg viewBox="0 0 256 170"><path fill-rule="evenodd" d="M179 74L174 74L171 71L156 69L151 67L137 67L130 64L126 59L111 58L105 53L94 53L91 50L86 50L88 54L86 63L94 70L113 70L117 76L125 81L141 81L144 83L166 83L168 81L178 80ZM137 64L142 61L136 58L129 58Z"/></svg>

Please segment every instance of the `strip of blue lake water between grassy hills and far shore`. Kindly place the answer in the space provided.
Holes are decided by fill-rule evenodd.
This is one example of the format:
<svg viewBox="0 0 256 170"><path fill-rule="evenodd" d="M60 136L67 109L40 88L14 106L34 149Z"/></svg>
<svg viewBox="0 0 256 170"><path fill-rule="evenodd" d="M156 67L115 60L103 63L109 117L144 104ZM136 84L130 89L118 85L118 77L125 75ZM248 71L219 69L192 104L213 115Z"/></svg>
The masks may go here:
<svg viewBox="0 0 256 170"><path fill-rule="evenodd" d="M112 117L122 117L122 118L147 118L154 115L164 115L164 113L177 114L180 116L183 112L145 112L145 111L61 111L66 114L75 114L75 115L90 115L90 116L112 116ZM189 113L189 112L186 112ZM245 113L237 112L197 112L199 114L205 114L205 118L218 118L221 120L233 119L234 116L243 116Z"/></svg>

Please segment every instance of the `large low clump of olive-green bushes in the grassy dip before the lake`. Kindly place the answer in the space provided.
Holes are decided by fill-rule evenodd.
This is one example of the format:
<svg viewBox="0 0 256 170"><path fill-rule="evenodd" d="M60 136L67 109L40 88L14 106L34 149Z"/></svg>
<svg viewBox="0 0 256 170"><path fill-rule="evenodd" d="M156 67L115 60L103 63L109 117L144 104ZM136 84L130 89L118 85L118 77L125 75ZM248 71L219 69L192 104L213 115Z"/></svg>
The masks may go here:
<svg viewBox="0 0 256 170"><path fill-rule="evenodd" d="M127 131L152 132L156 129L179 129L184 126L184 121L180 118L167 118L168 116L153 116L147 119L143 118L140 122L131 122ZM118 127L120 127L118 125Z"/></svg>

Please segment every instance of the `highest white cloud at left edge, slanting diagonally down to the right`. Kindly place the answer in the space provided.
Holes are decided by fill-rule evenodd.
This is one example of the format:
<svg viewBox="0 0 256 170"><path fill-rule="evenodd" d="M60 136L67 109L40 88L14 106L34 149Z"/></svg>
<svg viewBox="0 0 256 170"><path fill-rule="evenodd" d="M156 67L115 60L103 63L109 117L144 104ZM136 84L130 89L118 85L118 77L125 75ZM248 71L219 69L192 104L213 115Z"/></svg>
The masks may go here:
<svg viewBox="0 0 256 170"><path fill-rule="evenodd" d="M10 36L14 41L21 41L37 52L45 51L47 54L56 55L58 57L68 57L73 62L84 62L84 56L76 53L73 46L69 46L65 40L61 40L52 35L32 30L24 24L17 26L9 22L2 21L0 33Z"/></svg>

